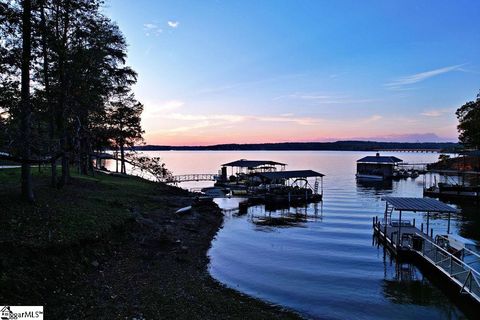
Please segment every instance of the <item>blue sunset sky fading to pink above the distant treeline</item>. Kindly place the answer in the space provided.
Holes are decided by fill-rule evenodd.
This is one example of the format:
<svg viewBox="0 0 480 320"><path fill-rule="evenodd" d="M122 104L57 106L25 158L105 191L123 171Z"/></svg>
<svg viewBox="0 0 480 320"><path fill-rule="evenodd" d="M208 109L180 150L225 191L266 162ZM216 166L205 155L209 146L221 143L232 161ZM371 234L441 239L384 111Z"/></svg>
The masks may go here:
<svg viewBox="0 0 480 320"><path fill-rule="evenodd" d="M130 1L148 144L455 141L480 88L478 1Z"/></svg>

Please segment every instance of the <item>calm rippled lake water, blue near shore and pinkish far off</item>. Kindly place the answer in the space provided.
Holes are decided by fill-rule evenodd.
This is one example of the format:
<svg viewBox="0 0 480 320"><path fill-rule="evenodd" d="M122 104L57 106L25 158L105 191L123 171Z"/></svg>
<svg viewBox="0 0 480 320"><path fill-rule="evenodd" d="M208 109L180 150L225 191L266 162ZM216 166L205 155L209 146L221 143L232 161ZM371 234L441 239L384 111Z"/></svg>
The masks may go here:
<svg viewBox="0 0 480 320"><path fill-rule="evenodd" d="M359 183L355 161L370 152L149 152L174 174L216 173L237 159L274 160L287 170L324 173L324 200L306 208L246 215L225 214L209 251L209 271L218 281L249 295L321 319L464 319L466 316L413 265L398 265L372 237L372 217L382 216L384 195L422 197L423 176L392 183ZM387 155L387 153L384 153ZM392 153L405 162L433 162L438 154ZM212 185L192 183L186 188ZM238 199L217 199L225 209ZM452 233L480 240L480 210L463 207L452 218ZM298 226L257 226L252 220L287 212L307 214ZM416 218L421 214L406 215ZM434 234L446 220L430 220Z"/></svg>

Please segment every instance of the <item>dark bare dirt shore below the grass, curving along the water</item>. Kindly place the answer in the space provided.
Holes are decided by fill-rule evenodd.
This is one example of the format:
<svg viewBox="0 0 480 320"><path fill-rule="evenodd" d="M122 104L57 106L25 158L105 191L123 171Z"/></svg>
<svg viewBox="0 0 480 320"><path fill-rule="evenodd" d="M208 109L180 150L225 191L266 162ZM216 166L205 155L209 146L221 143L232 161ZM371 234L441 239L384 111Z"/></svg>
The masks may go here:
<svg viewBox="0 0 480 320"><path fill-rule="evenodd" d="M63 248L1 244L1 302L43 305L46 319L300 318L214 280L207 251L221 210L179 188L159 190L150 196L158 208L129 208L132 218L98 239Z"/></svg>

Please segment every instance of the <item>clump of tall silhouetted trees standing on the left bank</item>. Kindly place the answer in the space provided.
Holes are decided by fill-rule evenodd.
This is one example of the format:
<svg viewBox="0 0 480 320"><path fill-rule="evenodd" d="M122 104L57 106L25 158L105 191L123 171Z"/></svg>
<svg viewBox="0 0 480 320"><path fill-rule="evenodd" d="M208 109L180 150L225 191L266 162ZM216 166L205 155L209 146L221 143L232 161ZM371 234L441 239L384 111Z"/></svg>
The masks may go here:
<svg viewBox="0 0 480 320"><path fill-rule="evenodd" d="M49 161L61 187L70 164L87 174L94 151L119 148L124 159L141 141L143 106L130 93L137 75L102 3L0 0L0 151L22 162L22 186L31 187L32 163Z"/></svg>

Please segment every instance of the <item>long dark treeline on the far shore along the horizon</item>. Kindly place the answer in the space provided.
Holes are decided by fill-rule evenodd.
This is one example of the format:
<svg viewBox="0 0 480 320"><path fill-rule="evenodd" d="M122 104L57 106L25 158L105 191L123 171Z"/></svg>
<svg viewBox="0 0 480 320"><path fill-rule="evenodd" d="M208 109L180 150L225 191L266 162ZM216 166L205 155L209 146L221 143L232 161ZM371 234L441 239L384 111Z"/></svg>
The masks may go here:
<svg viewBox="0 0 480 320"><path fill-rule="evenodd" d="M217 144L211 146L136 146L139 151L158 150L325 150L325 151L376 151L376 150L441 150L454 152L460 144L453 142L376 142L376 141L336 141L336 142L281 142L281 143L254 143L254 144Z"/></svg>

